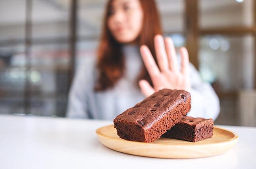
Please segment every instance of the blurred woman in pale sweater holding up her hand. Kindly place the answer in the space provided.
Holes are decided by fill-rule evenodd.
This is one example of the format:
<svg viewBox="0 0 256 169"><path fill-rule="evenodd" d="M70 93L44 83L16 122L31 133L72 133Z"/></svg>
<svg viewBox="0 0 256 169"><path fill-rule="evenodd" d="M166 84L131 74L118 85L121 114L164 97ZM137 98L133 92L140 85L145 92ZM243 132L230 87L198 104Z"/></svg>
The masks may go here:
<svg viewBox="0 0 256 169"><path fill-rule="evenodd" d="M191 93L188 116L218 117L218 96L187 49L178 58L171 38L163 38L154 0L109 0L97 52L76 73L67 117L112 120L162 88Z"/></svg>

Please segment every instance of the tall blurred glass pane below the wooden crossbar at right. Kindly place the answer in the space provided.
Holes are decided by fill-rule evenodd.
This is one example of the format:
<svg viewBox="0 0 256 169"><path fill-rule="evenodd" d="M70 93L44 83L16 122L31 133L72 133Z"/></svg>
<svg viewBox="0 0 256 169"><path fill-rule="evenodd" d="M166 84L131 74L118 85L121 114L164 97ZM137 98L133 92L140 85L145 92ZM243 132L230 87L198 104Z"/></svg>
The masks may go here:
<svg viewBox="0 0 256 169"><path fill-rule="evenodd" d="M239 125L239 93L253 89L254 37L208 35L200 39L200 74L212 83L221 101L218 124ZM237 116L237 117L236 117Z"/></svg>

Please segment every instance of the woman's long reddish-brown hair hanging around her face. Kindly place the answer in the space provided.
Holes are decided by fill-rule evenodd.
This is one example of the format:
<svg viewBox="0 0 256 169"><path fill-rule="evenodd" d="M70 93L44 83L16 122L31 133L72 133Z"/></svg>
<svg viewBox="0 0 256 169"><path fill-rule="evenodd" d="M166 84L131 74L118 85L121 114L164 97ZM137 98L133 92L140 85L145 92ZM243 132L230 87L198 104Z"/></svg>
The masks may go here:
<svg viewBox="0 0 256 169"><path fill-rule="evenodd" d="M117 81L122 77L125 70L124 57L121 50L122 44L115 40L107 25L112 1L113 0L109 0L109 2L106 4L103 30L98 47L97 69L99 74L98 81L94 86L95 91L104 91L108 88L114 87ZM145 44L148 46L154 59L156 60L154 36L157 34L162 34L159 14L154 0L139 1L143 11L143 23L141 33L138 36L138 45L141 46ZM138 87L139 80L141 79L147 80L152 85L152 81L144 64L137 77L136 83Z"/></svg>

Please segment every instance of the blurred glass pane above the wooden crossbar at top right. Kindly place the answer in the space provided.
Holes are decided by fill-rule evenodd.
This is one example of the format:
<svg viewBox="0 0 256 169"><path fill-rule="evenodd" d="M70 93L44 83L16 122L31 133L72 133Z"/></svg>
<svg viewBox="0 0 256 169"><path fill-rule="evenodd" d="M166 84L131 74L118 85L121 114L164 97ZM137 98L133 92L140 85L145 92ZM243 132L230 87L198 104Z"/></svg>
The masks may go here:
<svg viewBox="0 0 256 169"><path fill-rule="evenodd" d="M199 0L200 28L252 26L253 0Z"/></svg>

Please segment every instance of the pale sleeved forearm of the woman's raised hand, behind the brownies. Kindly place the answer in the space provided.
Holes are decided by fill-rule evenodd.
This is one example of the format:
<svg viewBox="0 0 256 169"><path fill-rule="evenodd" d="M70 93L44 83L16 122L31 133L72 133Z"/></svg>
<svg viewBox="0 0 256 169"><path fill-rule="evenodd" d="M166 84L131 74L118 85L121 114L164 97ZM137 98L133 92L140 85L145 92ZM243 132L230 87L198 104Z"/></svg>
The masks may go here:
<svg viewBox="0 0 256 169"><path fill-rule="evenodd" d="M217 119L220 111L219 98L209 83L202 81L196 68L189 65L191 79L191 111L187 116Z"/></svg>

